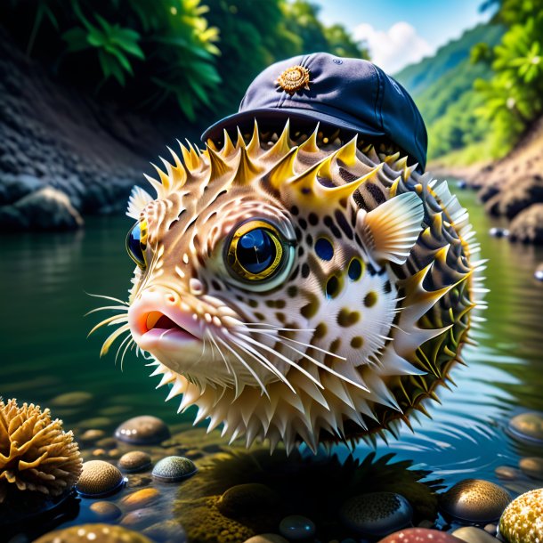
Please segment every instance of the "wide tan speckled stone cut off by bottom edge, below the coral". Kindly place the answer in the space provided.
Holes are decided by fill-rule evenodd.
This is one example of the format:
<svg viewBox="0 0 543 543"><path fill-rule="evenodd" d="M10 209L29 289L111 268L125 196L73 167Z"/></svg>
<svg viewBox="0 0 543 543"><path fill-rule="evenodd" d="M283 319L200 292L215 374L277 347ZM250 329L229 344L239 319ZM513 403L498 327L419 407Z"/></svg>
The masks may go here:
<svg viewBox="0 0 543 543"><path fill-rule="evenodd" d="M152 543L136 531L111 524L81 524L46 533L34 543Z"/></svg>

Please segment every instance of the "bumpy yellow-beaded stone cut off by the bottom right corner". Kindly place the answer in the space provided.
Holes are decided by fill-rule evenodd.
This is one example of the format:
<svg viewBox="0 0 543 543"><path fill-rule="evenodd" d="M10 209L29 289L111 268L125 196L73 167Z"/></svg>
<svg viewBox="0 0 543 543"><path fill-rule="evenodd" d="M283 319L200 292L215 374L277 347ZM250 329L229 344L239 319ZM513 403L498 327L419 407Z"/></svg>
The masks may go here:
<svg viewBox="0 0 543 543"><path fill-rule="evenodd" d="M499 533L509 543L543 541L543 489L515 498L499 519Z"/></svg>

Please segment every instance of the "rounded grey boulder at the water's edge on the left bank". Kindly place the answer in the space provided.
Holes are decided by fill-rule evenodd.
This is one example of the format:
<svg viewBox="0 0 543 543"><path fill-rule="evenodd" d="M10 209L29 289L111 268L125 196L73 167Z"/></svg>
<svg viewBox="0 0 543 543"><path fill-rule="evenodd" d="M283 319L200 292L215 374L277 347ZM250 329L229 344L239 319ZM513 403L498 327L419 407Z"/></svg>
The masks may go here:
<svg viewBox="0 0 543 543"><path fill-rule="evenodd" d="M12 208L23 215L28 228L36 231L76 230L83 226L83 218L71 205L68 196L61 190L44 187L19 199ZM4 212L4 207L2 208ZM8 220L0 214L0 226Z"/></svg>

